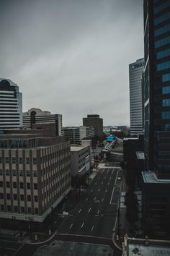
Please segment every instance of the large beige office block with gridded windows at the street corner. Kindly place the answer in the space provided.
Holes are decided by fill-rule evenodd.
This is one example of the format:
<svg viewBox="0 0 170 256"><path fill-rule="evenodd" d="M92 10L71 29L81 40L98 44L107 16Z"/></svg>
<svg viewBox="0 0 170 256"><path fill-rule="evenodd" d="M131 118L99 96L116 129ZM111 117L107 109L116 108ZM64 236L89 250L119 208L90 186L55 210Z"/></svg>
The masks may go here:
<svg viewBox="0 0 170 256"><path fill-rule="evenodd" d="M0 135L1 227L12 225L12 218L22 221L23 229L30 220L42 223L71 189L69 142L45 137L48 127L43 135L38 126Z"/></svg>

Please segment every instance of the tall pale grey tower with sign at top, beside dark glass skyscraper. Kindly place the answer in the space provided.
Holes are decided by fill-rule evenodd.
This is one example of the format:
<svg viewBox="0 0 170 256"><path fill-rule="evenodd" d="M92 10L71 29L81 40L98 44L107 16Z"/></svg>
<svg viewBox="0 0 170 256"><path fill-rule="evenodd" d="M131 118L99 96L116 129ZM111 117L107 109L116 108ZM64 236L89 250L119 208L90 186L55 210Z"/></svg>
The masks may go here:
<svg viewBox="0 0 170 256"><path fill-rule="evenodd" d="M143 133L142 74L144 59L137 59L129 65L130 87L130 135Z"/></svg>

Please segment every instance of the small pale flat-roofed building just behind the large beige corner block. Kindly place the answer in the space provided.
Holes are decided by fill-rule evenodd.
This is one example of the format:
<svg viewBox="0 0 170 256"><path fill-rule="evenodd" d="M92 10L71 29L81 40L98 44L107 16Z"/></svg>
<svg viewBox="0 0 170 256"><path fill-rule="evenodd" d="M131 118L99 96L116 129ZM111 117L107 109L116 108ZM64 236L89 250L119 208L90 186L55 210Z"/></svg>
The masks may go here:
<svg viewBox="0 0 170 256"><path fill-rule="evenodd" d="M91 158L90 158L90 147L86 145L82 146L71 146L71 175L82 175L90 171Z"/></svg>

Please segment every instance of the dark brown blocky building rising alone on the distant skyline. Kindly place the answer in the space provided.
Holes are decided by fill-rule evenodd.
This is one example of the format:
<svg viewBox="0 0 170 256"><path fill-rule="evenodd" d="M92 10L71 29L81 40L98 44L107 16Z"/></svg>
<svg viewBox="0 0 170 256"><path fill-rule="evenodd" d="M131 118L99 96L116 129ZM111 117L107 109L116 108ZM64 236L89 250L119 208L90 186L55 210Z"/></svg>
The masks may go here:
<svg viewBox="0 0 170 256"><path fill-rule="evenodd" d="M99 115L87 115L83 118L83 125L86 127L94 127L94 135L103 135L103 119Z"/></svg>

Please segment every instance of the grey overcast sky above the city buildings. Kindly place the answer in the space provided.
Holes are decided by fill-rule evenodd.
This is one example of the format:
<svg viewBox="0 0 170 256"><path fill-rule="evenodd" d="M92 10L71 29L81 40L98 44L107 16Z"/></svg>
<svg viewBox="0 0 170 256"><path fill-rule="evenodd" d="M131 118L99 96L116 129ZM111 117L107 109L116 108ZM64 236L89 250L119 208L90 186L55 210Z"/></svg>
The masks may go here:
<svg viewBox="0 0 170 256"><path fill-rule="evenodd" d="M63 126L99 114L128 124L128 64L143 57L143 0L0 0L0 77L23 111L63 114Z"/></svg>

